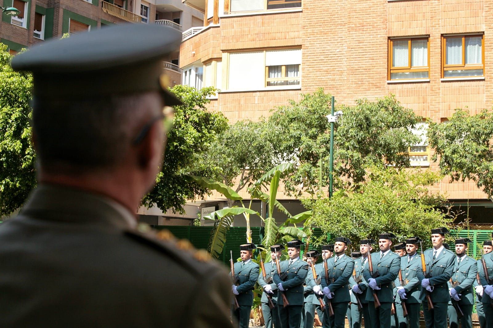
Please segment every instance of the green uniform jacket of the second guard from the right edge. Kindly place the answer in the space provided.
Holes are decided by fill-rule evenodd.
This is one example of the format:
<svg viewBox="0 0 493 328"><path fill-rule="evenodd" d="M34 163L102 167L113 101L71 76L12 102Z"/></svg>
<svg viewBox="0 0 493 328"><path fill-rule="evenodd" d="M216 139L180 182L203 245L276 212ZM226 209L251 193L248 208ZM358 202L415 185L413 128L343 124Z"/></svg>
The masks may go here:
<svg viewBox="0 0 493 328"><path fill-rule="evenodd" d="M454 261L454 271L452 274L452 281L457 281L459 285L455 287L455 290L460 295L459 304L474 304L474 291L473 284L476 280L476 274L478 273L478 266L476 260L471 259L467 255L462 259L460 264L457 262L457 256Z"/></svg>

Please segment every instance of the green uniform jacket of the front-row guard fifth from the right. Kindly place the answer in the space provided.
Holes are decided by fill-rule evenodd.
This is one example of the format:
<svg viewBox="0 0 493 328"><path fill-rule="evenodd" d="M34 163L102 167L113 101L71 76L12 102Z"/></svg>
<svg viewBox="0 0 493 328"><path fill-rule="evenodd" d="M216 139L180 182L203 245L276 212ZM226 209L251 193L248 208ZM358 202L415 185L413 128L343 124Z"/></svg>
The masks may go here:
<svg viewBox="0 0 493 328"><path fill-rule="evenodd" d="M380 253L375 252L371 254L373 274L376 275L378 272L378 277L375 278L377 285L380 290L375 291L380 302L392 303L394 301L394 293L392 283L399 274L400 268L400 257L392 252L388 252L382 260L380 260ZM369 265L365 264L363 268L363 277L366 281L370 281L372 276L370 275ZM368 287L371 289L371 287ZM372 291L366 294L366 299L368 301L374 301Z"/></svg>

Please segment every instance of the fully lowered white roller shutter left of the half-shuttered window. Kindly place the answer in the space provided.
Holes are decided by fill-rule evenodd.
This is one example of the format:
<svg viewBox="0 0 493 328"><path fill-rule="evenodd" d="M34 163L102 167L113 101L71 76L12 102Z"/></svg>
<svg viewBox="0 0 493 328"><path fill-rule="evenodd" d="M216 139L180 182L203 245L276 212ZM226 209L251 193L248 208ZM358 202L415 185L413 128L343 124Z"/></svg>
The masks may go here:
<svg viewBox="0 0 493 328"><path fill-rule="evenodd" d="M231 90L264 88L264 52L231 53L228 77Z"/></svg>

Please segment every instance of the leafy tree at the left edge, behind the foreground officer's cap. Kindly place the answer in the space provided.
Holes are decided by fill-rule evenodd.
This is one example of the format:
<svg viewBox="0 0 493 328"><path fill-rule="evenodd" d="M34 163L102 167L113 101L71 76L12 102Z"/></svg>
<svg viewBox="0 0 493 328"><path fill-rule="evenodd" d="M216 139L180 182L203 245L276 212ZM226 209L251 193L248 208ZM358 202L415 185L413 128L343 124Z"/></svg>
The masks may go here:
<svg viewBox="0 0 493 328"><path fill-rule="evenodd" d="M0 216L19 208L36 184L29 104L33 77L14 72L11 57L0 43Z"/></svg>

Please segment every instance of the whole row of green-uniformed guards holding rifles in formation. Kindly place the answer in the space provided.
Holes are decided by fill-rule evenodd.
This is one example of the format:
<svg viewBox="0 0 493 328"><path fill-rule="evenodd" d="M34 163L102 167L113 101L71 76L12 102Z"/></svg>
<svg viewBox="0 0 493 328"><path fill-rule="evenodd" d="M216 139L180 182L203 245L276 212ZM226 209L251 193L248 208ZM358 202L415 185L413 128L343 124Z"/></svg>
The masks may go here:
<svg viewBox="0 0 493 328"><path fill-rule="evenodd" d="M231 260L231 317L248 327L258 282L266 328L313 328L315 312L323 328L344 328L346 316L350 328L360 328L362 318L367 328L419 328L421 306L426 328L472 328L475 302L481 328L493 328L492 240L484 242L476 261L467 256L471 240L456 239L452 252L444 243L446 233L432 229L433 248L424 252L418 237L395 244L391 252L396 237L382 233L379 252L371 253L377 242L362 239L351 257L346 255L351 241L337 237L321 254L306 252L306 261L300 259L304 243L295 239L286 244L289 260L280 261L284 246L273 245L272 261L261 261L260 267L251 261L257 247L241 245L242 261ZM323 261L316 264L320 256Z"/></svg>

